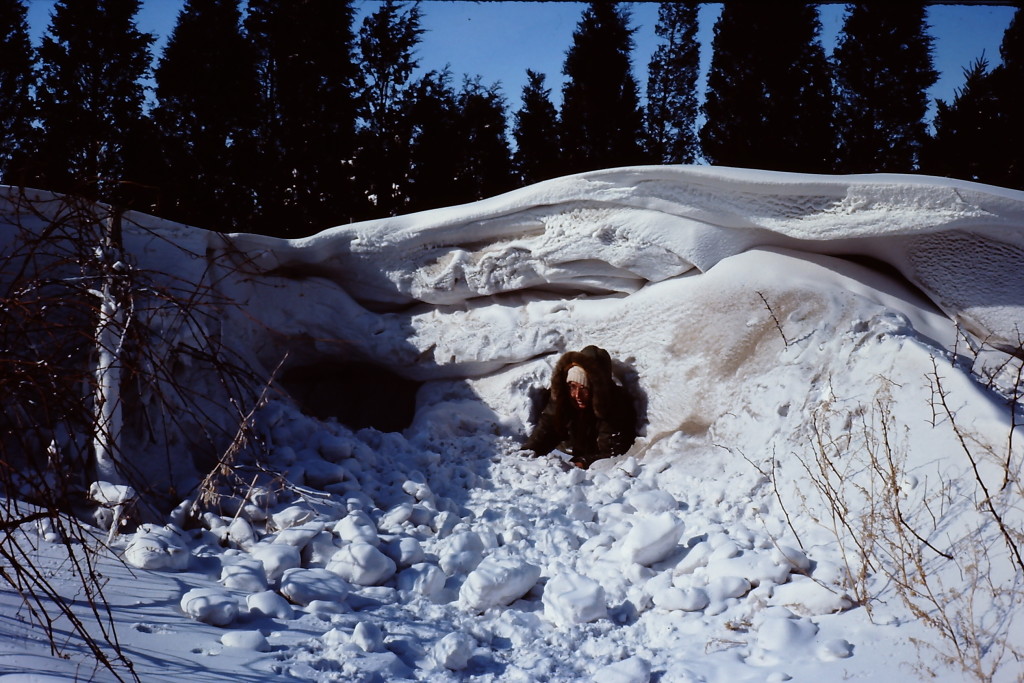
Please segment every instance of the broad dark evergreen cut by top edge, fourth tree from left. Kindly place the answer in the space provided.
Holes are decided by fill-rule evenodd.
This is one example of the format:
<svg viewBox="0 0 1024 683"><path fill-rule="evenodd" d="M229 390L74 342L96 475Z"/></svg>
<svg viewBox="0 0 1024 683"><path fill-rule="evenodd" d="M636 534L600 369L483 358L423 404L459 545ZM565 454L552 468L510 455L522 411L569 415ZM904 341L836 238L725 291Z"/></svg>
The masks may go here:
<svg viewBox="0 0 1024 683"><path fill-rule="evenodd" d="M260 85L260 231L300 237L346 222L355 199L351 0L249 0Z"/></svg>

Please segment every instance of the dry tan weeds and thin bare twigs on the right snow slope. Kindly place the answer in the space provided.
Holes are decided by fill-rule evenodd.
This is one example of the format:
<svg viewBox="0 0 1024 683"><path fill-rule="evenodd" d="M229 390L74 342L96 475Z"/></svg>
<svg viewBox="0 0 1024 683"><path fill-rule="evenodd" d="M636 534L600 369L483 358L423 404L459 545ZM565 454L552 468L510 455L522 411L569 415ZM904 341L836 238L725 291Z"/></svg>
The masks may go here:
<svg viewBox="0 0 1024 683"><path fill-rule="evenodd" d="M940 636L916 641L926 673L933 660L927 650L988 681L1022 655L1011 639L1024 580L1022 539L1007 521L1019 516L1020 498L989 489L982 461L1008 469L1013 458L979 451L985 440L957 423L934 368L935 426L955 437L966 470L925 469L918 461L909 471L907 430L894 415L892 384L883 381L867 404L835 400L818 408L808 449L794 454L813 492L797 496L805 513L838 541L849 578L845 588L872 620L877 603L895 595ZM925 471L929 480L921 481ZM958 476L962 471L973 472L974 480Z"/></svg>

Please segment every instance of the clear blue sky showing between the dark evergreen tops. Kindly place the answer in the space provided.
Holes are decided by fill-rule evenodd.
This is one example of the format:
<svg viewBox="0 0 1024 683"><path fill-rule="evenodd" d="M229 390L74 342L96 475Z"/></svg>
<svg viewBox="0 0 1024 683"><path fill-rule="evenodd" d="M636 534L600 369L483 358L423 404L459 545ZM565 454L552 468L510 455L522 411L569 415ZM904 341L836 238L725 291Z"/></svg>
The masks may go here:
<svg viewBox="0 0 1024 683"><path fill-rule="evenodd" d="M159 56L163 41L173 29L183 0L144 0L138 15L139 28L158 36L155 53ZM380 5L376 1L357 1L359 17ZM29 22L34 39L49 24L53 0L29 0ZM658 44L654 36L657 3L629 3L636 50L633 66L644 87L647 62ZM500 83L511 110L518 109L526 70L547 76L552 98L560 100L562 62L572 41L572 32L586 3L578 2L470 2L468 0L429 0L421 4L426 33L417 55L422 70L451 67L457 83L463 75L482 78L484 84ZM699 13L701 61L707 70L710 39L718 4L705 4ZM822 39L831 50L835 36L842 28L844 5L826 4L822 9ZM935 66L939 82L931 96L951 100L964 83L963 70L983 53L990 65L998 62L999 42L1015 9L998 5L933 5L929 23L935 38Z"/></svg>

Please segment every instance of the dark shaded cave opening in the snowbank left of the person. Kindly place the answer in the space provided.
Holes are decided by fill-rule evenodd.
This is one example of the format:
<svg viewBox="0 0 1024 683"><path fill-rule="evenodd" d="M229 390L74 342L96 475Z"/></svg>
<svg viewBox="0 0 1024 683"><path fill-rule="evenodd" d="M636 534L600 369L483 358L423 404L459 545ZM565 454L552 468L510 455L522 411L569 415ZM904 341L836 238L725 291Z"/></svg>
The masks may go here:
<svg viewBox="0 0 1024 683"><path fill-rule="evenodd" d="M281 385L299 409L349 429L400 432L413 424L421 382L365 362L324 361L291 368Z"/></svg>

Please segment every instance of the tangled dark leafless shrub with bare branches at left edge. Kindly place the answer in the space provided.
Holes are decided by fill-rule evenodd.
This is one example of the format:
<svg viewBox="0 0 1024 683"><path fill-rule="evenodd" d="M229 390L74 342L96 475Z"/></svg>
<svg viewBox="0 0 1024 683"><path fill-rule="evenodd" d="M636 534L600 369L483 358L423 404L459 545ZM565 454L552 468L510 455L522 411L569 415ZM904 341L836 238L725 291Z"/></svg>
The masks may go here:
<svg viewBox="0 0 1024 683"><path fill-rule="evenodd" d="M90 484L130 486L137 515L160 518L231 441L231 407L252 403L259 382L216 332L230 302L215 283L138 268L123 227L146 230L117 208L8 189L0 223L0 578L54 653L67 620L98 666L137 678L95 564L103 551L95 525L115 533L137 519L97 505ZM62 544L91 626L37 566L33 522Z"/></svg>

